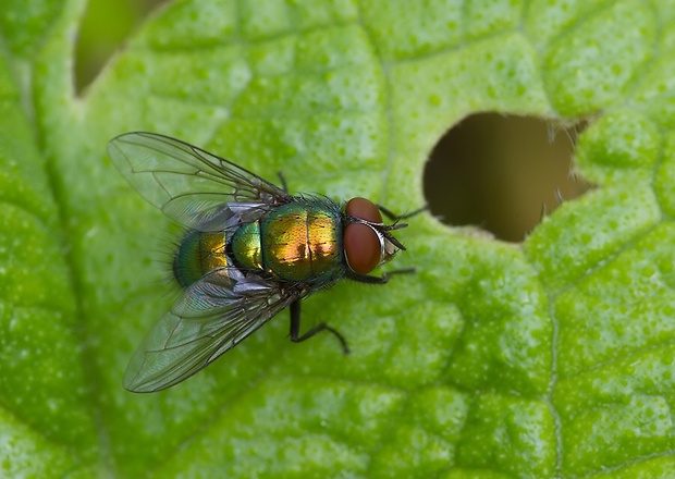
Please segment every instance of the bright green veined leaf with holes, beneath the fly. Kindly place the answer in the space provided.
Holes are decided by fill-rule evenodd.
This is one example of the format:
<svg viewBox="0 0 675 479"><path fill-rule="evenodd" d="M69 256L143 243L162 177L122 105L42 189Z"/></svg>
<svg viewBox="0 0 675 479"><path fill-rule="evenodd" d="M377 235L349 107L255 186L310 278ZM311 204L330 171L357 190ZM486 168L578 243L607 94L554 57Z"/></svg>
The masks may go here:
<svg viewBox="0 0 675 479"><path fill-rule="evenodd" d="M84 8L0 5L0 475L672 472L673 2L176 1L78 97ZM176 388L122 389L173 297L175 232L111 137L406 211L442 134L486 110L588 120L577 168L598 187L518 246L410 219L390 268L415 275L304 303L349 356L290 343L282 312Z"/></svg>

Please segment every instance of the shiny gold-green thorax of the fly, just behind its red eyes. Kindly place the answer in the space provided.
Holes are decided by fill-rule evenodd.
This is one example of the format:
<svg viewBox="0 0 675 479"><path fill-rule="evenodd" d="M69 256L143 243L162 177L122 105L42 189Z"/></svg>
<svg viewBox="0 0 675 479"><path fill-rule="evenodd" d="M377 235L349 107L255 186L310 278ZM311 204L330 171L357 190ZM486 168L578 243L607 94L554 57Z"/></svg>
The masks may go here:
<svg viewBox="0 0 675 479"><path fill-rule="evenodd" d="M326 282L344 270L342 218L329 200L298 200L280 206L232 238L242 268L265 270L285 281Z"/></svg>

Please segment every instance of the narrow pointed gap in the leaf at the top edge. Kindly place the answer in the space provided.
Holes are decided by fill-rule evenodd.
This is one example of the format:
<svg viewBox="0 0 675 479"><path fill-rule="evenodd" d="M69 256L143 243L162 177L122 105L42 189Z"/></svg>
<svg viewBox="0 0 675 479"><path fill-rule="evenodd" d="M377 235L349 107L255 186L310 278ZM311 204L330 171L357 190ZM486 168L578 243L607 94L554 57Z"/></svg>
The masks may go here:
<svg viewBox="0 0 675 479"><path fill-rule="evenodd" d="M75 45L75 91L79 95L130 33L167 0L90 0Z"/></svg>

